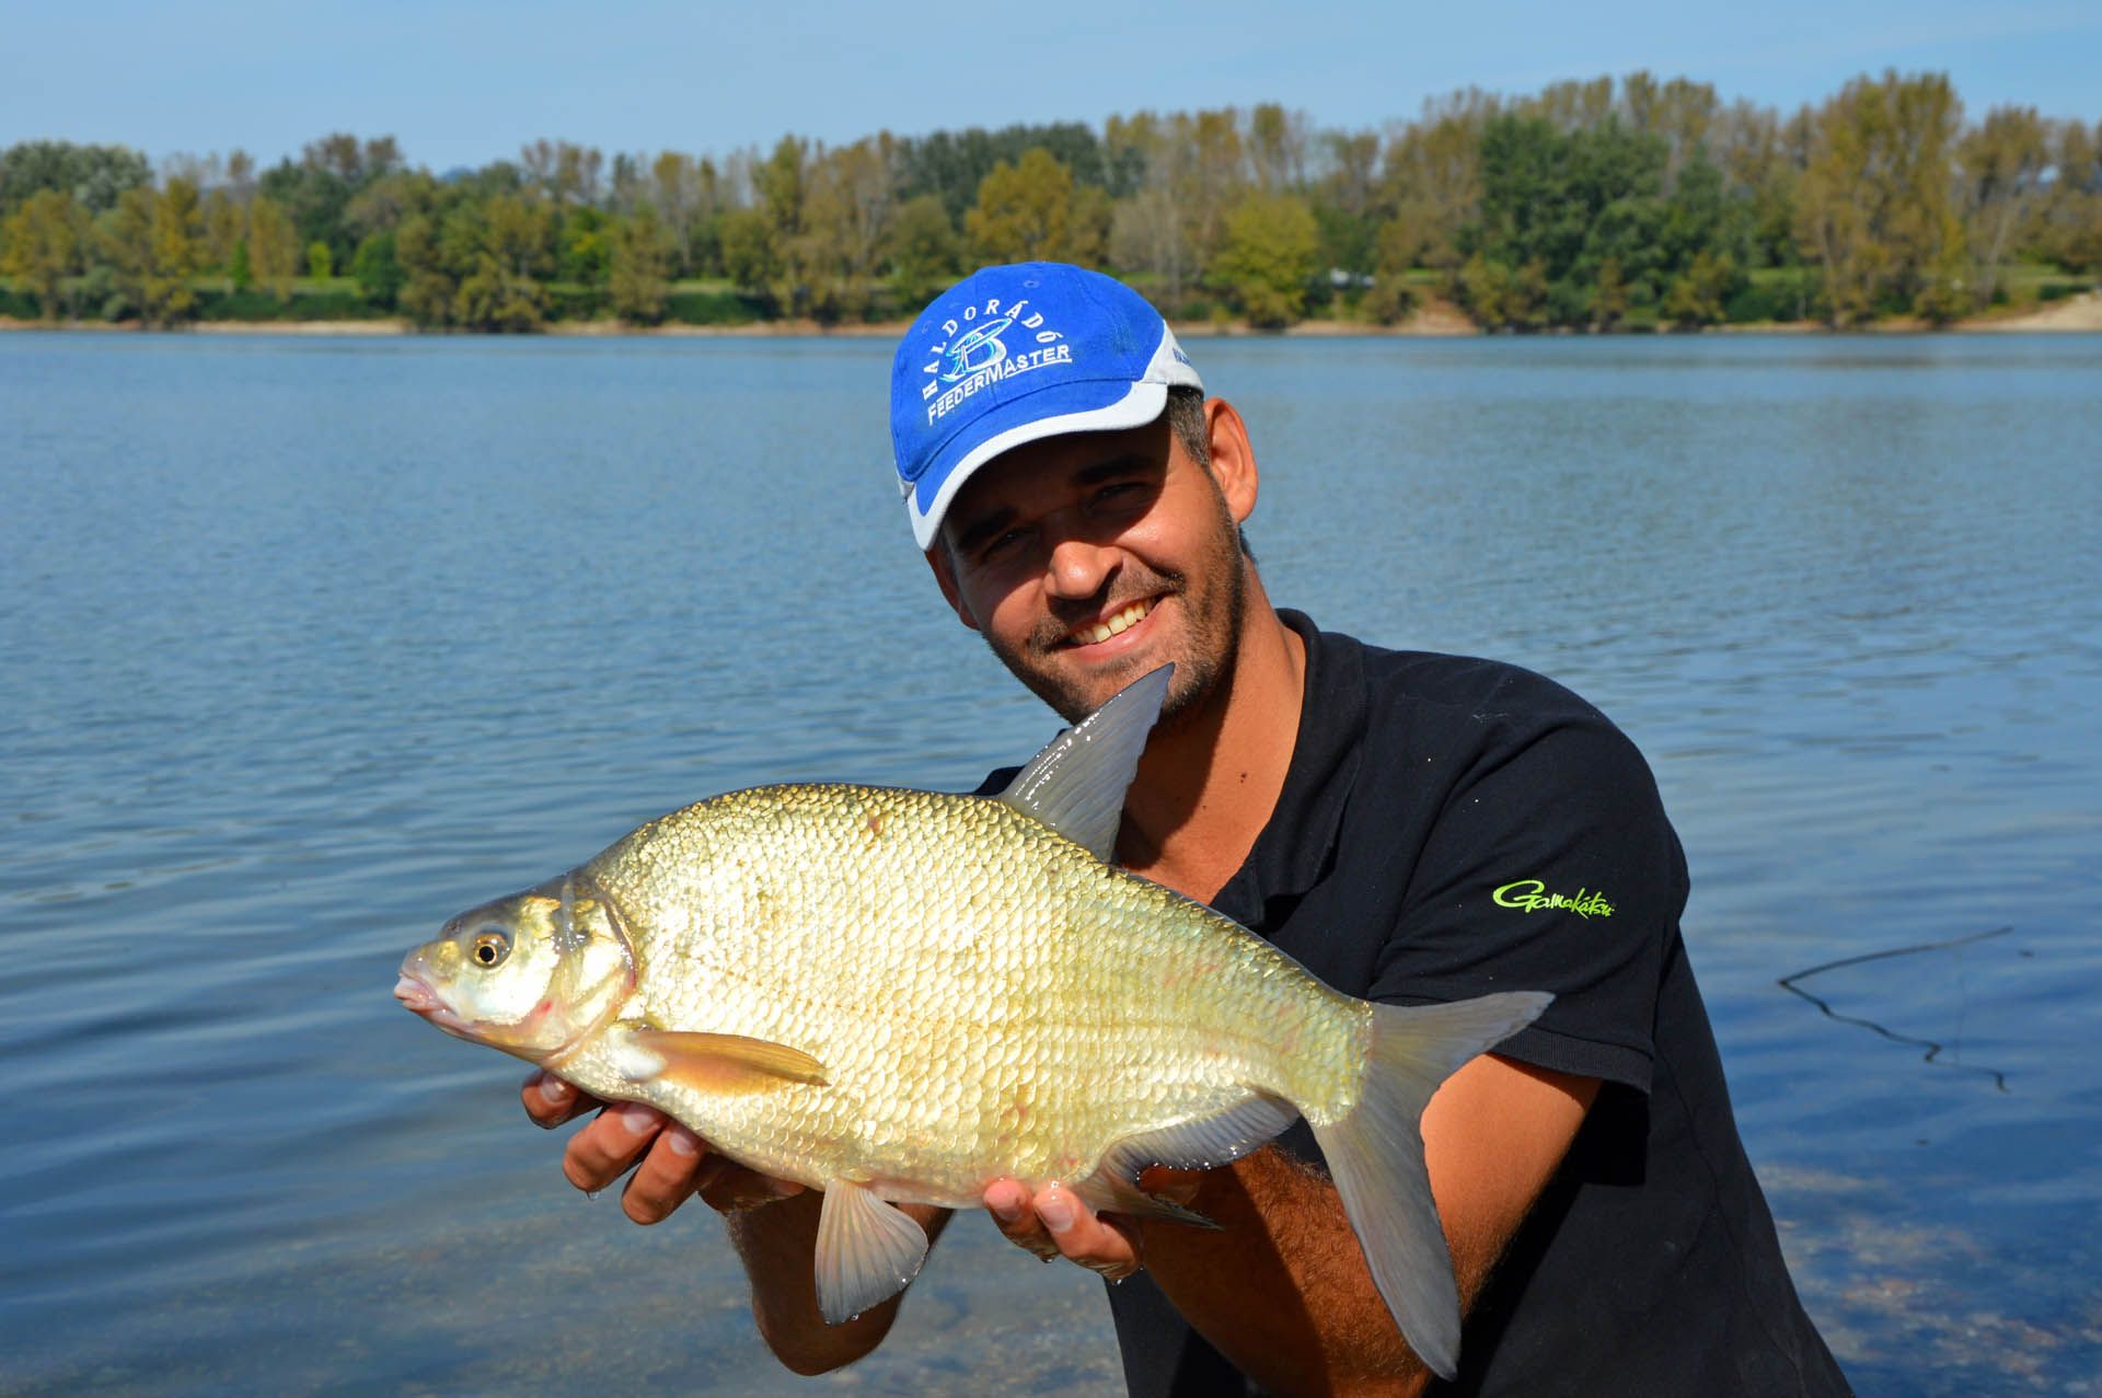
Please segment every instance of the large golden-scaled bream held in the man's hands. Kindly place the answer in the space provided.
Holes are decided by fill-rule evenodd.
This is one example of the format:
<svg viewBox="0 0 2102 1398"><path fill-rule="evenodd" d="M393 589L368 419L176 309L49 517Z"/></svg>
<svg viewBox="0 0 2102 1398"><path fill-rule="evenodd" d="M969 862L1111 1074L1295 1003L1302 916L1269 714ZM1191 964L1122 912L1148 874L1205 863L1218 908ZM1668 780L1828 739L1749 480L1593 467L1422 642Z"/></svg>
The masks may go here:
<svg viewBox="0 0 2102 1398"><path fill-rule="evenodd" d="M1116 868L1167 681L1127 687L998 797L761 786L652 820L452 919L395 994L824 1190L830 1322L919 1272L927 1236L893 1200L971 1209L1013 1175L1202 1221L1139 1171L1223 1165L1303 1114L1402 1335L1450 1375L1459 1301L1417 1118L1549 996L1371 1005Z"/></svg>

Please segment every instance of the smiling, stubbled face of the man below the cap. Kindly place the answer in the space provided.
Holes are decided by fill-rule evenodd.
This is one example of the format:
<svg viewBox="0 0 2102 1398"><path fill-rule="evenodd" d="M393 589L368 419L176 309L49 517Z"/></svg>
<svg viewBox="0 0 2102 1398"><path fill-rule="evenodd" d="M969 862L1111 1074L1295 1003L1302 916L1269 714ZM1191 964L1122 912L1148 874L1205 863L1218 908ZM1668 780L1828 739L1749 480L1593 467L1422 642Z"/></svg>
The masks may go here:
<svg viewBox="0 0 2102 1398"><path fill-rule="evenodd" d="M1232 675L1246 593L1236 526L1162 416L982 467L942 521L933 568L963 622L1068 721L1169 660L1173 717Z"/></svg>

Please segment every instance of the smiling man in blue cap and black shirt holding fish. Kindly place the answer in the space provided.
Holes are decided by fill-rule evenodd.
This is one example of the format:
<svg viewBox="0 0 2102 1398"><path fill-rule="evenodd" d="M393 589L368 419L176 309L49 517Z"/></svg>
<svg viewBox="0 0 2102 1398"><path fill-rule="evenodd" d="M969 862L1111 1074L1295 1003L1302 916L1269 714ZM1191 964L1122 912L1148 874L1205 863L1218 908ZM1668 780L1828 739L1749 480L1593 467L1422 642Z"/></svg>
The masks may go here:
<svg viewBox="0 0 2102 1398"><path fill-rule="evenodd" d="M1028 263L961 282L900 345L891 429L942 595L1022 683L1078 719L1175 662L1122 864L1349 994L1555 992L1423 1114L1467 1310L1455 1387L1846 1392L1736 1137L1677 933L1684 860L1633 746L1537 675L1274 610L1240 538L1259 484L1246 427L1110 277ZM555 1125L595 1104L536 1076L526 1106ZM818 1318L818 1207L799 1186L635 1106L563 1156L578 1188L631 1167L633 1219L694 1192L727 1215L792 1369L883 1339L898 1299ZM1129 1278L1110 1306L1135 1394L1431 1381L1303 1125L1225 1169L1156 1175L1221 1228L1095 1215L1057 1184L986 1190L1017 1245ZM940 1236L946 1213L912 1213Z"/></svg>

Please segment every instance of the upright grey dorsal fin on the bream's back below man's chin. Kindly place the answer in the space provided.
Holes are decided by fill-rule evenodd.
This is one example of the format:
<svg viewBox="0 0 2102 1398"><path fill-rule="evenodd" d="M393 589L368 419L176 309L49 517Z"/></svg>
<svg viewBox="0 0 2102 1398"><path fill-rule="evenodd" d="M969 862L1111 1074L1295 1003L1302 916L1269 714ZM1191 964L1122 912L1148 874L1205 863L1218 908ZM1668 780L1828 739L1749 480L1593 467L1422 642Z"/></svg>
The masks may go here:
<svg viewBox="0 0 2102 1398"><path fill-rule="evenodd" d="M1108 704L1074 723L1015 774L1001 801L1045 822L1097 860L1116 854L1116 826L1125 818L1125 788L1139 769L1146 736L1160 717L1173 664L1162 664L1122 690Z"/></svg>

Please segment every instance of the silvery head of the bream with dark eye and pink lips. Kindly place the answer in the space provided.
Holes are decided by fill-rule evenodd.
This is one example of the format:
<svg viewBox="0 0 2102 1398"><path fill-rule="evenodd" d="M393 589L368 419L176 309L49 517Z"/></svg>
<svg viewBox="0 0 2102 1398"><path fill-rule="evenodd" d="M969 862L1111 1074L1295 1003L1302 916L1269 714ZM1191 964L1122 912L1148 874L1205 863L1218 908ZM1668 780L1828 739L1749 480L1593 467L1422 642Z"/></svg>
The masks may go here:
<svg viewBox="0 0 2102 1398"><path fill-rule="evenodd" d="M620 917L580 875L458 914L395 982L395 999L448 1034L549 1066L633 990Z"/></svg>

